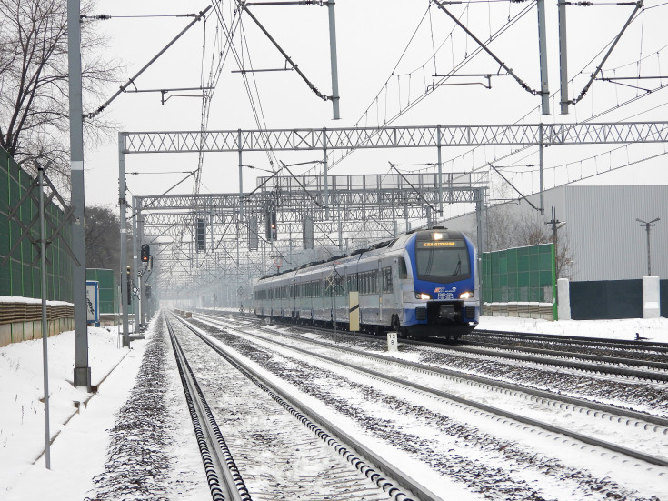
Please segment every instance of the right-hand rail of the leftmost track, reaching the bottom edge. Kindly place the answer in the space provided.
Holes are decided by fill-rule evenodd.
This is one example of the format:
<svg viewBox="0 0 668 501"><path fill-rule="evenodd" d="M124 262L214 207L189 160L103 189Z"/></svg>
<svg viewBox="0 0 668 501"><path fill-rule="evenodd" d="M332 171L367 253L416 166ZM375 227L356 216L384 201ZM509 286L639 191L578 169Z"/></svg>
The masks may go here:
<svg viewBox="0 0 668 501"><path fill-rule="evenodd" d="M427 487L421 485L413 477L406 475L402 470L394 466L392 463L387 461L383 456L380 456L368 447L364 446L359 440L350 435L340 426L336 426L330 419L321 414L315 412L313 409L304 408L304 405L294 396L291 396L284 389L277 386L274 381L263 376L260 372L254 370L254 368L245 365L241 360L239 360L233 353L229 350L225 350L222 346L214 343L211 340L211 336L208 333L204 333L196 326L186 322L183 318L175 316L184 326L189 328L196 336L199 336L200 339L206 343L207 346L211 347L217 354L223 356L224 359L236 367L240 372L245 376L255 382L256 385L263 388L265 391L276 400L279 404L283 405L286 409L290 410L288 407L294 407L298 411L290 411L294 414L295 417L300 419L304 425L308 426L310 429L314 430L316 435L319 436L330 446L334 446L334 449L341 455L344 456L351 464L353 464L359 471L361 471L365 476L372 480L377 486L381 487L389 496L394 498L396 501L412 501L413 498L407 496L406 493L402 492L398 486L389 481L384 476L381 476L378 472L374 470L371 466L366 464L362 458L368 458L368 462L374 464L379 470L383 471L387 476L395 478L404 486L407 486L411 491L413 491L421 501L444 501L440 496L434 494ZM281 402L284 401L284 403ZM300 417L300 415L304 415ZM307 418L313 420L315 423L308 423ZM349 450L348 446L342 444L337 444L336 440L330 436L324 429L332 431L332 435L339 437L344 443L351 446L354 450ZM316 431L317 430L317 431ZM356 451L356 452L355 452ZM416 500L415 500L416 501Z"/></svg>

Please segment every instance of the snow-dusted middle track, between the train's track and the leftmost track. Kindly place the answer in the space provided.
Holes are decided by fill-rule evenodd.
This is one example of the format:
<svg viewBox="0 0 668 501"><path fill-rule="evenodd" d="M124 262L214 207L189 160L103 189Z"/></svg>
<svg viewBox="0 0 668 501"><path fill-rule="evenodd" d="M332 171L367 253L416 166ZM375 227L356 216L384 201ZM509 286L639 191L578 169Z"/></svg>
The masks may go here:
<svg viewBox="0 0 668 501"><path fill-rule="evenodd" d="M227 326L229 328L229 325ZM236 327L238 328L238 327ZM244 334L247 336L255 336L257 337L258 335L250 333L246 330L244 330ZM282 334L282 336L288 336L285 334ZM264 340L266 338L262 336ZM293 339L296 339L293 337ZM384 380L389 380L394 382L395 384L400 384L404 386L409 386L414 390L421 391L424 393L431 394L433 396L439 396L442 398L446 398L448 400L457 402L459 404L463 404L465 406L472 406L476 409L479 409L481 411L484 411L485 413L489 413L491 416L503 416L504 418L512 419L513 421L523 423L525 425L529 426L535 426L537 428L541 428L545 431L557 433L563 436L569 436L575 440L581 441L586 444L590 444L592 446L600 446L605 449L621 453L625 456L630 456L634 457L636 459L641 459L643 461L647 461L648 463L652 463L654 465L658 466L668 466L668 458L663 457L663 456L655 456L655 455L650 455L650 454L645 454L640 450L637 450L636 448L633 448L630 445L625 445L621 446L619 443L611 443L608 440L602 439L600 436L595 436L595 434L584 434L580 431L574 431L573 428L577 429L577 426L575 426L574 423L570 423L567 427L564 426L558 426L555 425L557 421L548 422L545 417L543 416L542 419L536 418L535 412L526 412L526 409L524 409L524 412L521 414L517 410L510 410L508 406L505 406L505 408L499 407L499 406L490 406L487 404L484 404L481 402L483 401L488 401L491 399L490 396L484 395L482 398L479 396L479 399L472 399L470 397L467 397L466 395L471 394L471 389L470 386L479 386L480 388L485 388L486 390L491 389L495 393L499 393L499 391L504 391L506 392L506 396L504 398L507 398L507 395L510 394L512 396L519 396L520 394L523 394L521 396L522 399L526 399L527 395L532 397L533 403L534 404L540 404L542 406L548 406L551 408L564 408L567 411L570 410L575 410L577 412L587 414L589 413L590 416L594 416L595 418L600 418L604 417L608 420L615 421L621 425L621 429L624 429L624 426L633 426L633 427L638 427L642 426L643 429L645 430L650 430L651 431L651 436L668 436L668 419L661 418L661 417L656 417L656 416L649 416L645 415L643 413L637 413L631 410L623 410L620 408L616 408L613 406L604 406L604 405L593 405L591 402L584 401L582 399L577 399L577 398L563 398L560 396L556 396L554 394L549 394L549 392L540 392L540 391L529 391L527 392L526 388L519 388L517 386L513 385L501 385L498 386L496 382L492 383L490 380L483 381L482 378L479 377L470 377L470 376L463 376L461 374L454 376L453 371L445 371L441 369L436 369L431 366L426 366L424 364L416 364L416 363L406 363L404 361L399 361L394 357L389 357L389 356L379 356L379 355L371 355L367 353L360 353L358 350L354 350L351 348L346 348L346 347L339 347L339 346L332 346L329 343L324 343L320 341L316 341L313 339L304 339L304 337L299 337L297 339L301 344L304 345L311 345L307 346L306 348L302 348L301 346L294 346L293 344L287 344L284 343L283 341L278 341L276 339L271 339L271 342L276 345L276 346L283 346L284 348L290 349L297 351L300 356L317 356L321 357L324 360L338 364L341 366L346 366L348 368L352 368L354 370L358 370L360 372L364 372L367 375L371 375L377 378L382 378ZM350 359L350 356L354 356L355 360L354 361L344 361L332 356L324 356L321 354L314 353L314 349L312 346L322 346L326 347L329 351L332 350L337 350L344 352L345 356ZM465 385L467 387L463 387L459 392L456 392L456 390L453 391L453 385L448 385L450 388L450 391L444 392L440 391L437 389L434 389L433 387L426 387L420 384L415 384L410 381L410 378L406 376L388 376L386 373L372 369L372 368L366 368L360 365L360 362L357 360L357 358L364 358L364 359L371 359L374 361L380 361L384 364L389 364L393 366L393 370L391 371L393 374L398 374L397 369L405 368L406 366L411 367L414 370L421 371L422 373L431 373L435 374L437 376L445 376L450 378L451 381L456 381L457 379L460 381L464 381ZM495 387L494 387L495 386ZM512 407L511 407L512 408ZM514 406L514 409L519 409L521 406ZM533 417L532 417L533 416ZM589 423L583 423L583 426L581 426L581 429L587 429L588 426L591 426ZM628 433L628 429L626 429L626 432ZM656 434L656 435L653 435ZM633 438L633 440L637 440L637 438ZM627 442L627 444L629 444ZM665 440L665 444L663 446L668 446L668 439ZM661 450L661 448L656 449L656 450Z"/></svg>

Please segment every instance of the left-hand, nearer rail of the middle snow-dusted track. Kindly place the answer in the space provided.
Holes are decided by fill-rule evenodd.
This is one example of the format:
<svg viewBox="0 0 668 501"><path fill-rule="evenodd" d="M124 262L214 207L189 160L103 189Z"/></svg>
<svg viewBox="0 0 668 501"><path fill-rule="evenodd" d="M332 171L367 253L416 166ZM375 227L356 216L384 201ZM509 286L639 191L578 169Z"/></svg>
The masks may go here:
<svg viewBox="0 0 668 501"><path fill-rule="evenodd" d="M181 321L184 322L184 320L181 320ZM227 326L227 327L229 328L229 326ZM440 396L444 399L452 400L452 401L457 402L459 404L463 404L464 406L471 406L471 407L483 410L484 412L487 412L489 414L493 414L495 416L503 416L503 417L506 417L508 419L513 419L514 421L517 421L519 423L523 423L525 425L535 426L537 428L542 428L542 429L544 429L546 431L550 431L552 433L560 434L560 435L563 435L563 436L568 436L568 437L573 438L575 440L579 440L579 441L581 441L585 444L589 444L590 446L600 446L600 447L603 447L605 449L623 454L625 456L633 457L635 459L641 459L641 460L646 461L647 463L651 463L653 465L668 466L668 459L664 459L663 457L657 457L657 456L644 454L643 452L633 450L633 449L630 449L630 448L625 447L625 446L618 446L616 444L612 444L610 442L595 438L593 436L586 436L586 435L583 435L581 433L568 430L568 429L563 428L561 426L553 426L553 425L550 425L548 423L543 423L541 421L538 421L538 420L530 418L530 417L521 416L521 415L518 415L516 413L500 409L498 407L488 406L486 404L482 404L480 402L475 402L474 400L469 400L467 398L464 398L464 397L461 397L461 396L456 396L456 395L448 393L448 392L444 392L444 391L441 391L441 390L436 390L436 389L429 388L429 387L422 386L422 385L417 385L415 383L405 381L404 379L401 379L399 377L389 376L385 373L381 373L381 372L375 371L373 369L367 369L367 368L363 368L363 367L360 367L360 366L355 366L352 363L337 360L337 359L329 357L329 356L319 355L319 354L315 354L313 352L307 352L306 350L300 349L297 346L287 345L285 343L282 343L280 341L276 341L274 339L267 339L267 338L264 338L262 336L257 336L253 333L243 331L242 329L239 329L237 327L234 327L234 328L236 330L238 330L239 332L243 332L246 336L254 336L256 338L263 339L264 341L274 343L277 346L283 346L284 348L296 351L296 352L301 353L303 355L314 356L316 358L320 358L322 360L325 360L329 363L347 367L347 368L349 368L351 370L354 370L356 372L361 372L363 374L374 376L374 377L377 377L379 379L392 381L395 384L400 385L400 386L406 386L406 387L409 387L411 389L421 391L421 392L424 392L424 393L427 393L427 394ZM305 340L304 338L300 338L300 339ZM313 342L314 340L313 339L307 339L307 341L308 342ZM316 344L319 344L319 343L316 343ZM332 346L331 344L325 344L325 345L329 346L330 348L331 347L336 347L336 348L339 347L339 346ZM355 352L356 350L344 350L344 351ZM356 355L360 355L359 352L357 352ZM371 358L375 357L375 356L368 356L367 354L361 354L361 355L371 357ZM387 358L391 358L391 357L387 357ZM403 360L399 361L395 358L392 359L392 362L395 363L395 364L396 363L401 363L401 364L405 363ZM414 363L409 363L407 365L413 366L413 364ZM424 365L420 365L420 366L424 366ZM430 366L424 366L424 367L426 367L426 370L433 370L433 367L430 367ZM423 367L420 367L420 368L421 368L421 370L424 370ZM551 397L551 399L554 399L554 398ZM666 420L663 420L663 422L666 422ZM662 426L664 426L664 425L662 425Z"/></svg>

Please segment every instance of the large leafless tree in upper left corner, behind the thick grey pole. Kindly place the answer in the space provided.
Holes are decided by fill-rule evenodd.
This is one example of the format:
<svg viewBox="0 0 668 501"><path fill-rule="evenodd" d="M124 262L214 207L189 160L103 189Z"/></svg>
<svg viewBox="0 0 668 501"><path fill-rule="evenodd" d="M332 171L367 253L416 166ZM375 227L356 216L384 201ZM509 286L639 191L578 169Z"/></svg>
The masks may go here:
<svg viewBox="0 0 668 501"><path fill-rule="evenodd" d="M82 4L82 14L91 2ZM84 99L99 101L119 65L95 57L104 37L82 25ZM69 188L66 0L0 0L0 146L25 170L51 160L59 188ZM103 138L104 119L85 123L88 143Z"/></svg>

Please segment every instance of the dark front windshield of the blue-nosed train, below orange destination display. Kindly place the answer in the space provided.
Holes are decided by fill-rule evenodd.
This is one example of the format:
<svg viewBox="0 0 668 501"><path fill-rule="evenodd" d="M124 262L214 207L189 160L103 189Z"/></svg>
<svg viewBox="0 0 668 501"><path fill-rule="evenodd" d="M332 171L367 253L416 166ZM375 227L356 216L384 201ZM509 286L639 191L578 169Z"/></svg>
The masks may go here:
<svg viewBox="0 0 668 501"><path fill-rule="evenodd" d="M447 284L471 276L469 252L464 240L435 245L434 242L416 242L415 247L419 280Z"/></svg>

